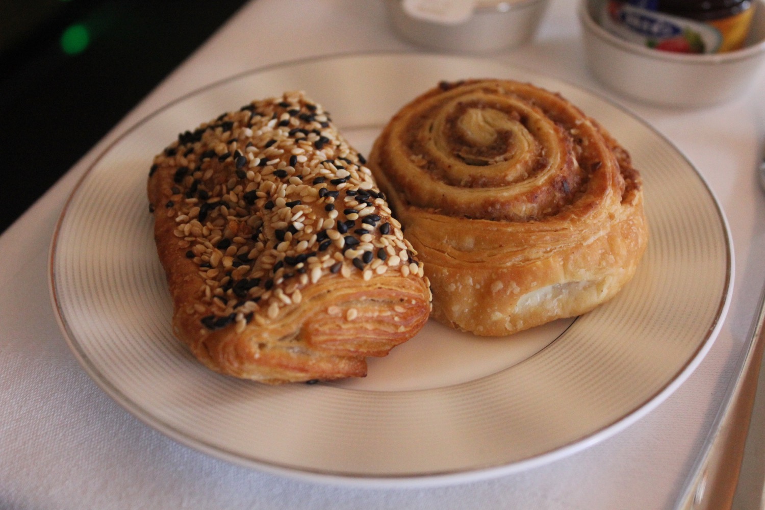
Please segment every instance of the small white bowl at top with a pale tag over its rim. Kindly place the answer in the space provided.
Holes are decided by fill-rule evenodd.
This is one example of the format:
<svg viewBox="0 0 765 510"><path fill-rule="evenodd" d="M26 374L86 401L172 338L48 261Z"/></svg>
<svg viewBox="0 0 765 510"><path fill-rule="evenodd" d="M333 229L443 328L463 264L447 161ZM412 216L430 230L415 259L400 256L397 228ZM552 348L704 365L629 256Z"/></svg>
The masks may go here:
<svg viewBox="0 0 765 510"><path fill-rule="evenodd" d="M433 50L481 53L531 41L549 0L479 0L466 21L443 24L409 15L402 0L384 0L394 31Z"/></svg>

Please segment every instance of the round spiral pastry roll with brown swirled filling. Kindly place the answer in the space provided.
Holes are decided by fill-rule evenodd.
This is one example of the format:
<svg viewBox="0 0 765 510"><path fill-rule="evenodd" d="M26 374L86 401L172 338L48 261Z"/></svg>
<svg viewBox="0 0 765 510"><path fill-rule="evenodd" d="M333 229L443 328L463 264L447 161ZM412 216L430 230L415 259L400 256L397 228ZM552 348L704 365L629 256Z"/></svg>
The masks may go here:
<svg viewBox="0 0 765 510"><path fill-rule="evenodd" d="M627 151L528 83L441 83L390 120L369 168L425 264L432 316L458 330L586 313L633 278L648 242Z"/></svg>

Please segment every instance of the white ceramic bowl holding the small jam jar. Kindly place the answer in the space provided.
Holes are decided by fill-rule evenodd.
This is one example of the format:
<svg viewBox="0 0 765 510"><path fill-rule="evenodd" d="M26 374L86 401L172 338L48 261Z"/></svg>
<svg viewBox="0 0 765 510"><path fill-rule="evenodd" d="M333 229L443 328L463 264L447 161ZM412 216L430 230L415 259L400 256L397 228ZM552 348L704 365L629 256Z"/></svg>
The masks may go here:
<svg viewBox="0 0 765 510"><path fill-rule="evenodd" d="M721 54L675 54L623 41L596 20L605 0L582 0L578 15L588 67L604 85L656 106L712 106L746 93L765 61L765 0L755 0L747 44Z"/></svg>

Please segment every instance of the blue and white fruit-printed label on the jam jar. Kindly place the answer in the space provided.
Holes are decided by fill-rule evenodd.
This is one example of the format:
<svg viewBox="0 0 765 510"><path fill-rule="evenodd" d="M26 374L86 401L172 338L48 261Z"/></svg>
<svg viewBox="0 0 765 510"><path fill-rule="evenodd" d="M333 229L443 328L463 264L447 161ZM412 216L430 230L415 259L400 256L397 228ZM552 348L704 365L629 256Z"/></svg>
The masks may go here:
<svg viewBox="0 0 765 510"><path fill-rule="evenodd" d="M667 15L618 0L606 3L601 24L607 31L626 41L656 50L717 53L723 43L723 35L711 24Z"/></svg>

